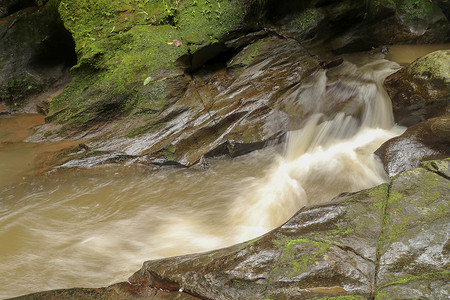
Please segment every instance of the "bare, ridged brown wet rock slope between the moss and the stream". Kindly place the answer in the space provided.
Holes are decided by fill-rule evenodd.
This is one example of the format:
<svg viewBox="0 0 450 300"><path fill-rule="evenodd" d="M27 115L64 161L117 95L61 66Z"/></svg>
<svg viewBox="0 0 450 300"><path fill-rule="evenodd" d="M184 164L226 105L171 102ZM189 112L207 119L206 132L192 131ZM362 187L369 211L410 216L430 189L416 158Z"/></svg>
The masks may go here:
<svg viewBox="0 0 450 300"><path fill-rule="evenodd" d="M263 38L225 63L219 69L206 64L190 76L155 78L145 88L149 96L165 97L160 100L164 107L147 117L142 107L88 146L143 156L145 164L192 166L204 157L234 157L279 142L292 118L315 112L314 103L306 100L302 115L288 107L297 101L289 95L321 69L296 41Z"/></svg>

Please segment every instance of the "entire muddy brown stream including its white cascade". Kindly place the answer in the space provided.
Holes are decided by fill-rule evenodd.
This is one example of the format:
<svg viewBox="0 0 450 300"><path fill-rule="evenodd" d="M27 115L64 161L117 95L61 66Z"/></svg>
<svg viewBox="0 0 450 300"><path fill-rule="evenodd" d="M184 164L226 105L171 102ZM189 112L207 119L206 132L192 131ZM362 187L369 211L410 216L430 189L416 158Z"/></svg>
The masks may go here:
<svg viewBox="0 0 450 300"><path fill-rule="evenodd" d="M316 101L317 112L285 145L215 159L207 170L106 166L29 177L34 155L49 150L7 137L12 122L29 130L26 116L0 119L0 298L124 281L145 260L245 241L305 205L386 181L372 153L403 130L382 87L397 68L348 57L330 72L351 87L357 109L332 116L321 113L333 97L330 74L318 72L297 96Z"/></svg>

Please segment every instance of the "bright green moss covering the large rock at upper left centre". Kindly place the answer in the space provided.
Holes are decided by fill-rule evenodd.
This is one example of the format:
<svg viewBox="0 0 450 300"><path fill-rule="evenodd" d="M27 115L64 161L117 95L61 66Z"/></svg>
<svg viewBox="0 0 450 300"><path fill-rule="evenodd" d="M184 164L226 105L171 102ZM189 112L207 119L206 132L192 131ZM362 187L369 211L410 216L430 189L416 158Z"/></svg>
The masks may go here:
<svg viewBox="0 0 450 300"><path fill-rule="evenodd" d="M61 1L59 12L74 37L78 64L72 83L51 101L48 120L89 125L106 113L157 112L166 97L163 83L144 85L145 80L176 69L179 57L226 35L243 20L246 5L238 0ZM81 120L87 112L91 115Z"/></svg>

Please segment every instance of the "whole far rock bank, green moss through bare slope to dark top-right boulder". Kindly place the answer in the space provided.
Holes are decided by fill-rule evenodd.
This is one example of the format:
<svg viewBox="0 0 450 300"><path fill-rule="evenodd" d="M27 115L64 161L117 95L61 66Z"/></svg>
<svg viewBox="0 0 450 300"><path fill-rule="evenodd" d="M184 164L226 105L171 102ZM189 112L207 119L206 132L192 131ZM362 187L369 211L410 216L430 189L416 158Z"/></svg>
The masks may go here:
<svg viewBox="0 0 450 300"><path fill-rule="evenodd" d="M289 97L316 70L342 63L333 52L444 42L449 24L439 6L412 2L232 1L216 8L201 1L202 11L187 3L64 2L57 9L78 64L68 88L43 107L47 125L33 141L97 136L87 142L94 153L182 166L259 149L308 116L309 104L292 105ZM24 84L20 91L28 91ZM333 88L346 90L341 82ZM347 100L330 111L351 110Z"/></svg>

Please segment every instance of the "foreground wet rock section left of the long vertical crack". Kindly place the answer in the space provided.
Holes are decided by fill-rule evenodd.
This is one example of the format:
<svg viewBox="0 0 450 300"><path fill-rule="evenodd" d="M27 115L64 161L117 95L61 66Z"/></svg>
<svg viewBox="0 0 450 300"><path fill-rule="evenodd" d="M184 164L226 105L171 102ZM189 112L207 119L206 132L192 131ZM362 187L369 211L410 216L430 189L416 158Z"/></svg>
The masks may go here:
<svg viewBox="0 0 450 300"><path fill-rule="evenodd" d="M146 262L130 282L157 278L207 299L370 297L386 199L387 185L342 195L248 243Z"/></svg>

